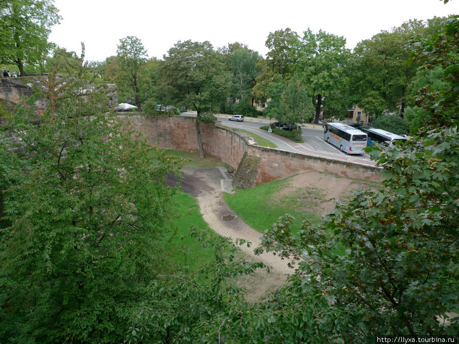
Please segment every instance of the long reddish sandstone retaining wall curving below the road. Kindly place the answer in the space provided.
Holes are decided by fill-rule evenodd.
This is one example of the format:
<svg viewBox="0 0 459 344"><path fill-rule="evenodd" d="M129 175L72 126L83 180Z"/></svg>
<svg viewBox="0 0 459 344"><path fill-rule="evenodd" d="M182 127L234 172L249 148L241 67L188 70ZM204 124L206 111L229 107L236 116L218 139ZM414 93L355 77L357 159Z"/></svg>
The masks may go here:
<svg viewBox="0 0 459 344"><path fill-rule="evenodd" d="M121 118L141 131L148 143L161 148L198 153L195 118L156 117L144 115L120 115ZM220 159L240 172L247 164L247 157L257 162L256 171L250 172L248 180L258 183L284 178L304 171L333 173L343 177L381 181L380 169L342 162L328 158L291 153L283 150L257 146L241 132L233 131L217 124L203 124L201 140L207 155ZM246 155L244 155L247 153ZM256 174L256 175L253 175ZM241 173L243 175L244 173ZM253 178L252 178L253 177ZM244 184L243 182L241 184ZM246 184L246 183L245 183ZM250 185L246 184L246 187Z"/></svg>

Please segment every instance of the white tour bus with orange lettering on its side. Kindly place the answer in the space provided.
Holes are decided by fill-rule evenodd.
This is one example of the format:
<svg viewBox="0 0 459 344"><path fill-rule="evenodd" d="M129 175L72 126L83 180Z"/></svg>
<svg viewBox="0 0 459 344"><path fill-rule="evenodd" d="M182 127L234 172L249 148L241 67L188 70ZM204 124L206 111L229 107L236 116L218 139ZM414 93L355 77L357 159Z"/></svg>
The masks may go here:
<svg viewBox="0 0 459 344"><path fill-rule="evenodd" d="M323 139L348 154L363 154L367 146L367 134L343 123L326 123Z"/></svg>

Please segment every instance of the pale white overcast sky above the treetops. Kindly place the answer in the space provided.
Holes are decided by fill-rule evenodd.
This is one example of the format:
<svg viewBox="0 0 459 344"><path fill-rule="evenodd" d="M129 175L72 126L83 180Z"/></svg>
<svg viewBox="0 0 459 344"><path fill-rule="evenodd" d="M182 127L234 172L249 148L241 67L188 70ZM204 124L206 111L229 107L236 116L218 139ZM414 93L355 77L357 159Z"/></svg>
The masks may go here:
<svg viewBox="0 0 459 344"><path fill-rule="evenodd" d="M270 32L311 28L344 36L347 47L409 19L459 13L459 0L55 0L63 17L49 39L86 60L116 55L119 40L140 38L149 57L163 58L177 41L240 42L265 56Z"/></svg>

